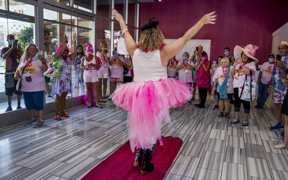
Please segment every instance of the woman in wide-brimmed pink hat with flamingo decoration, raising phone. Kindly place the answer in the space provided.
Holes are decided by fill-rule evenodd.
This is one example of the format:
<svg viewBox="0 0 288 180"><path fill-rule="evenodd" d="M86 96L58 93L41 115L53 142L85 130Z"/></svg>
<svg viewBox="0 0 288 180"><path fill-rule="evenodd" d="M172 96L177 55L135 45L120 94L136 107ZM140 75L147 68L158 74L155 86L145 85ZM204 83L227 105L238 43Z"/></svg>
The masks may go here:
<svg viewBox="0 0 288 180"><path fill-rule="evenodd" d="M252 45L251 45L252 46ZM239 115L240 115L240 106L243 104L244 108L244 121L242 122L242 126L248 126L248 116L250 113L250 101L244 101L239 98L238 90L240 88L241 83L243 83L246 79L251 79L255 82L255 71L256 64L259 62L254 56L256 56L256 51L252 49L249 45L241 48L240 46L235 46L234 48L234 56L237 56L232 68L230 69L230 74L234 76L233 80L233 88L234 88L234 111L235 111L235 119L231 122L232 124L238 123ZM241 58L239 58L241 57ZM252 74L250 74L250 71Z"/></svg>

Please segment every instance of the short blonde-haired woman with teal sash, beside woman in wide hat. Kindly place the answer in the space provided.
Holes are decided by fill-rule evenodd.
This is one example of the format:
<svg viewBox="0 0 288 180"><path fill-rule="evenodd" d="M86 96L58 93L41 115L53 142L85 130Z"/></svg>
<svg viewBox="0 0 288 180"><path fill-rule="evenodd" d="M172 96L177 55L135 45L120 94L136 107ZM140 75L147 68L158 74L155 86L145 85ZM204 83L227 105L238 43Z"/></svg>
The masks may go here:
<svg viewBox="0 0 288 180"><path fill-rule="evenodd" d="M233 77L230 75L231 66L229 66L229 59L222 58L221 66L217 68L215 73L214 85L213 85L213 93L216 91L216 85L218 83L217 92L219 96L219 106L220 106L220 114L218 117L222 118L224 116L223 110L225 106L225 116L226 118L230 118L229 110L230 110L230 98L233 96Z"/></svg>

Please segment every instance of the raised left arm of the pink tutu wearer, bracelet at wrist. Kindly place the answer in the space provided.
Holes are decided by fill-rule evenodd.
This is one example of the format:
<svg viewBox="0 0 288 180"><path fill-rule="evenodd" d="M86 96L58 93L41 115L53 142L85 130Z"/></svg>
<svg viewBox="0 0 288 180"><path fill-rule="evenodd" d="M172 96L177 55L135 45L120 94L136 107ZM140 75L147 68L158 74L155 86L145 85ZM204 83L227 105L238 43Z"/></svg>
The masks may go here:
<svg viewBox="0 0 288 180"><path fill-rule="evenodd" d="M120 26L121 26L121 31L123 32L124 30L128 30L125 21L123 19L123 16L121 14L119 14L116 9L112 9L112 16L115 18L115 20L120 22ZM123 22L122 22L123 21ZM130 35L129 31L125 31L123 33L124 38L125 38L125 45L126 48L130 54L130 56L132 56L133 59L133 55L134 55L134 51L137 49L137 44L136 42L133 40L132 36ZM174 57L174 56L173 56Z"/></svg>

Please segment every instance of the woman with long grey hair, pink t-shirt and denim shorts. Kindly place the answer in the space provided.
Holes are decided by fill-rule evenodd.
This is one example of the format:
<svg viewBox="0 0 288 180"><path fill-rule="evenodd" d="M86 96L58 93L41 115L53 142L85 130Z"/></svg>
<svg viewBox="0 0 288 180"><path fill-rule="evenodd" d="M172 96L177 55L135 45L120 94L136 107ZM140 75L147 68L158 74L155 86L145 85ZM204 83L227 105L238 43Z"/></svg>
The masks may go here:
<svg viewBox="0 0 288 180"><path fill-rule="evenodd" d="M29 112L30 119L24 124L29 126L36 122L34 110L38 112L39 120L33 125L39 128L44 124L43 120L43 97L45 91L45 78L43 71L47 71L48 66L44 56L39 55L35 44L28 44L24 50L14 79L21 77L21 91L25 107Z"/></svg>

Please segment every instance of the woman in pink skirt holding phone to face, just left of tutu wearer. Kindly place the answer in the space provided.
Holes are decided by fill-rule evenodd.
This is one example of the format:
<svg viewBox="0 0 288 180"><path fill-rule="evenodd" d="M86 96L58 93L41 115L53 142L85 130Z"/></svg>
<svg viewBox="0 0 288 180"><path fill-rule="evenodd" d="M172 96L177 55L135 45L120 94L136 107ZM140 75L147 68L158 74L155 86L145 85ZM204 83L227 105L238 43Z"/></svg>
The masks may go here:
<svg viewBox="0 0 288 180"><path fill-rule="evenodd" d="M117 48L113 49L113 56L110 57L109 66L111 70L111 75L109 77L110 82L110 94L112 94L118 83L118 86L123 84L123 71L124 71L124 57L117 54Z"/></svg>

